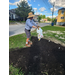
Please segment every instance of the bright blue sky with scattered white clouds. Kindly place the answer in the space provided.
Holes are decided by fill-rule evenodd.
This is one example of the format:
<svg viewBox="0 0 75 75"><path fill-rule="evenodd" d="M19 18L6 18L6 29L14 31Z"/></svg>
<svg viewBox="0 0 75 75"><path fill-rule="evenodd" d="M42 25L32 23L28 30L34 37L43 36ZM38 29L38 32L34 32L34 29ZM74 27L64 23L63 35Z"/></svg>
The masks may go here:
<svg viewBox="0 0 75 75"><path fill-rule="evenodd" d="M23 1L23 0L22 0ZM32 6L34 14L42 14L46 17L52 18L52 11L54 5L53 17L58 15L60 8L65 8L65 0L25 0L29 6ZM9 0L9 10L17 8L17 3L21 0Z"/></svg>

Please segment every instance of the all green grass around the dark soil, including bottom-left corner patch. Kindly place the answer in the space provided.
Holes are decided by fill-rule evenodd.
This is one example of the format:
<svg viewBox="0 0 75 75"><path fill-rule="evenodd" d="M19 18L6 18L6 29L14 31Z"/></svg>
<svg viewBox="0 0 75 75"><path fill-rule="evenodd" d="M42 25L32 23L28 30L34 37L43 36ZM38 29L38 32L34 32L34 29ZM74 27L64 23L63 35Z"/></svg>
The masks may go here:
<svg viewBox="0 0 75 75"><path fill-rule="evenodd" d="M43 32L43 35L45 38L56 38L57 40L60 40L61 42L65 43L65 28L64 27L57 27L57 26L45 26L41 27ZM51 31L60 31L63 34L57 34L53 33ZM36 30L31 32L32 36L37 36ZM61 39L59 37L63 37L64 39ZM19 34L12 37L9 37L9 51L12 51L12 49L15 48L23 48L25 47L26 43L26 34ZM12 65L9 65L9 75L23 75L22 72L19 72L20 69L13 67ZM45 73L47 74L47 73Z"/></svg>

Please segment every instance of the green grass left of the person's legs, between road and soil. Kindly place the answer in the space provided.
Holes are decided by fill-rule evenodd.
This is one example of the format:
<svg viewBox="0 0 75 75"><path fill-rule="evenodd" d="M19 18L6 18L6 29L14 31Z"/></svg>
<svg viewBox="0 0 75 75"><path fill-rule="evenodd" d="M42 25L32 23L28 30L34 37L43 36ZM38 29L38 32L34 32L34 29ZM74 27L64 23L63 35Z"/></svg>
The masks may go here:
<svg viewBox="0 0 75 75"><path fill-rule="evenodd" d="M26 34L19 34L12 37L9 37L9 49L11 48L22 48L25 46ZM10 51L10 50L9 50Z"/></svg>

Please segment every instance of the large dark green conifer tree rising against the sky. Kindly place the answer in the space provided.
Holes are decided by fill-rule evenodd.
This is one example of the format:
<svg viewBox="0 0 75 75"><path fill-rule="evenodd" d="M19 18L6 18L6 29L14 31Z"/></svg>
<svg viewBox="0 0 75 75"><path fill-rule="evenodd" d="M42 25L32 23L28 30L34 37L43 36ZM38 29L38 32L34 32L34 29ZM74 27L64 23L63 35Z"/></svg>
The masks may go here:
<svg viewBox="0 0 75 75"><path fill-rule="evenodd" d="M34 11L32 10L32 7L28 5L28 3L23 0L19 4L17 4L18 8L16 9L16 14L23 18L23 21L25 21L25 18L28 16L29 12L32 12L34 14Z"/></svg>

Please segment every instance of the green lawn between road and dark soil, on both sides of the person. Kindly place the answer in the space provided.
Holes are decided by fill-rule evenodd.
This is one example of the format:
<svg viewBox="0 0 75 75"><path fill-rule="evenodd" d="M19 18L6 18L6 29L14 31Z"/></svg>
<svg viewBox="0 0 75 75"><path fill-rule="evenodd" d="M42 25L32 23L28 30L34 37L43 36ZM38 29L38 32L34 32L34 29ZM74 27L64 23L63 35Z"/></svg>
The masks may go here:
<svg viewBox="0 0 75 75"><path fill-rule="evenodd" d="M41 27L45 38L56 38L61 42L65 42L65 28L56 26ZM58 33L58 34L57 34ZM32 36L37 36L36 30L31 32ZM25 47L26 34L19 34L9 37L9 49Z"/></svg>

